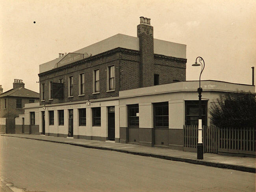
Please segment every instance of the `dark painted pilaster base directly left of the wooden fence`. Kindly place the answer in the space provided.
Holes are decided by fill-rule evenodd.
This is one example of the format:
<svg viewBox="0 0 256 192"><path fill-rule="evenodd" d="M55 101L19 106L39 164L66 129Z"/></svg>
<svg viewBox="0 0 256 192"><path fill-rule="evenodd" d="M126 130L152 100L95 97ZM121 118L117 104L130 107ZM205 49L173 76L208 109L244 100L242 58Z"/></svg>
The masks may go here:
<svg viewBox="0 0 256 192"><path fill-rule="evenodd" d="M169 129L169 149L183 150L183 129Z"/></svg>

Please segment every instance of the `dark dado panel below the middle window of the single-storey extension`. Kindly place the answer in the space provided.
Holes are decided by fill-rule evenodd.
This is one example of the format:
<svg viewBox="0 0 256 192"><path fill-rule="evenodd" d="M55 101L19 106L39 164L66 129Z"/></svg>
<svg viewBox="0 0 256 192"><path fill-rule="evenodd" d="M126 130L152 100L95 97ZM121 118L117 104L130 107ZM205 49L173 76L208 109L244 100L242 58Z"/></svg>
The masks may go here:
<svg viewBox="0 0 256 192"><path fill-rule="evenodd" d="M169 129L154 129L154 146L169 147Z"/></svg>

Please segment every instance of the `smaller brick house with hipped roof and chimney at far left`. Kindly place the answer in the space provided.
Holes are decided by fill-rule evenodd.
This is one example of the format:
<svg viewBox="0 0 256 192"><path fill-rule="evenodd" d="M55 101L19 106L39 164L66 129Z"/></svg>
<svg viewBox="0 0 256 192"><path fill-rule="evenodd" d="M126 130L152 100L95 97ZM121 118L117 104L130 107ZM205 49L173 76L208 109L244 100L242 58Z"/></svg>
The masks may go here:
<svg viewBox="0 0 256 192"><path fill-rule="evenodd" d="M13 89L0 94L0 132L15 133L15 118L24 114L26 103L39 102L39 93L25 88L22 80L14 79Z"/></svg>

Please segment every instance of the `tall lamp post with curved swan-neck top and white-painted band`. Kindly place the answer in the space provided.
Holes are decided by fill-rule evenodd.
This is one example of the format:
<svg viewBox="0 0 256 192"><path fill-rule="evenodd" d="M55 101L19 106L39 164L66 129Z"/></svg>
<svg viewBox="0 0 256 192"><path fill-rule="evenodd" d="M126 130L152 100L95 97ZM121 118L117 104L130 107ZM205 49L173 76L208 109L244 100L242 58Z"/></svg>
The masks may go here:
<svg viewBox="0 0 256 192"><path fill-rule="evenodd" d="M197 59L199 63L197 63ZM199 88L197 89L198 92L198 142L197 142L197 159L204 159L204 147L202 142L202 91L201 88L201 74L204 71L204 60L202 57L197 57L196 62L192 66L200 66L201 65L201 72L199 76Z"/></svg>

